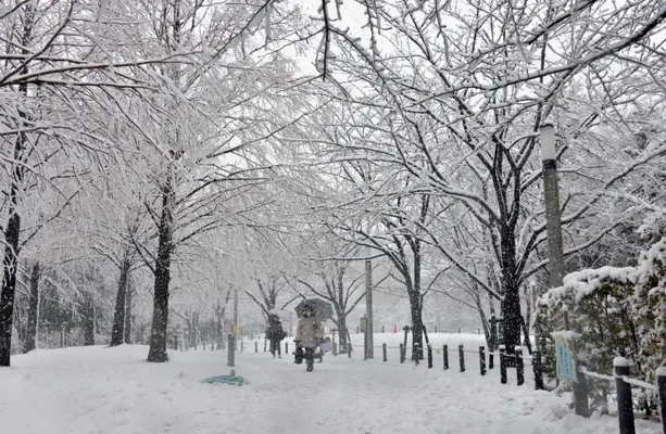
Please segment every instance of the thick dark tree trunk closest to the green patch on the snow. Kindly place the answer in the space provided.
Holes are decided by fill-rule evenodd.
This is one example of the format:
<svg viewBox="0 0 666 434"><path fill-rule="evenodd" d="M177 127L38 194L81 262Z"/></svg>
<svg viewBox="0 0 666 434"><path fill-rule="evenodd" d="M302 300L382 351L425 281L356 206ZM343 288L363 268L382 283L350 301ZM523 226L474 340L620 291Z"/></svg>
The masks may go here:
<svg viewBox="0 0 666 434"><path fill-rule="evenodd" d="M162 216L160 218L160 238L158 258L155 260L155 286L153 296L152 329L148 361L164 362L166 354L166 328L168 322L168 283L171 280L171 256L173 252L173 206L174 187L172 174L166 178L162 189Z"/></svg>

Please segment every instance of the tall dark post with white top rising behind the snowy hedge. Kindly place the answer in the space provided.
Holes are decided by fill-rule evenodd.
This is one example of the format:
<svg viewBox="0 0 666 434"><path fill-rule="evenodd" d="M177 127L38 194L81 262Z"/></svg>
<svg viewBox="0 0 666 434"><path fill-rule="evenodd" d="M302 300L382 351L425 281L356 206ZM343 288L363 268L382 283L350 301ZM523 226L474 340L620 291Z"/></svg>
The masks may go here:
<svg viewBox="0 0 666 434"><path fill-rule="evenodd" d="M549 246L550 286L562 285L564 278L564 251L562 247L562 221L560 216L560 188L557 186L557 150L552 124L541 127L541 161L543 167L543 196L545 202L545 231Z"/></svg>

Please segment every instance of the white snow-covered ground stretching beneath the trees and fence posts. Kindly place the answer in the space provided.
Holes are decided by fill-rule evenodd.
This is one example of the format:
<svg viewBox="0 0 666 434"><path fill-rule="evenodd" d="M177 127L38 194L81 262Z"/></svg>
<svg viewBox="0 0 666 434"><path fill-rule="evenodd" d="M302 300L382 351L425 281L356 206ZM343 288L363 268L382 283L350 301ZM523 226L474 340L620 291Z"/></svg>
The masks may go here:
<svg viewBox="0 0 666 434"><path fill-rule="evenodd" d="M472 359L461 373L453 358L452 369L443 371L441 365L400 365L397 357L387 363L380 357L325 357L309 373L292 357L246 352L237 355L236 370L251 383L238 387L201 383L229 373L225 352L173 352L167 363L148 363L147 354L144 346L98 346L14 357L12 368L0 369L1 432L618 432L615 418L578 418L565 397L533 391L530 375L522 387L511 375L512 384L502 385L498 369L481 376ZM661 432L641 420L637 427Z"/></svg>

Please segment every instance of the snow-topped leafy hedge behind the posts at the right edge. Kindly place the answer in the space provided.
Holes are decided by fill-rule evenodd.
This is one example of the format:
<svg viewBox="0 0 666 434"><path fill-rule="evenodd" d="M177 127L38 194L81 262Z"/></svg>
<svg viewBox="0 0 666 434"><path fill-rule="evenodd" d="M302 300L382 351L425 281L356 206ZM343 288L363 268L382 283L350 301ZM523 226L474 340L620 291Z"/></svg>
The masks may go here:
<svg viewBox="0 0 666 434"><path fill-rule="evenodd" d="M564 330L563 307L578 337L574 349L590 371L611 374L613 358L633 361L632 375L654 381L666 359L666 237L642 253L638 267L602 267L567 275L564 285L539 299L537 330L542 337L546 373L554 375L550 333ZM603 395L606 384L591 381L590 393Z"/></svg>

